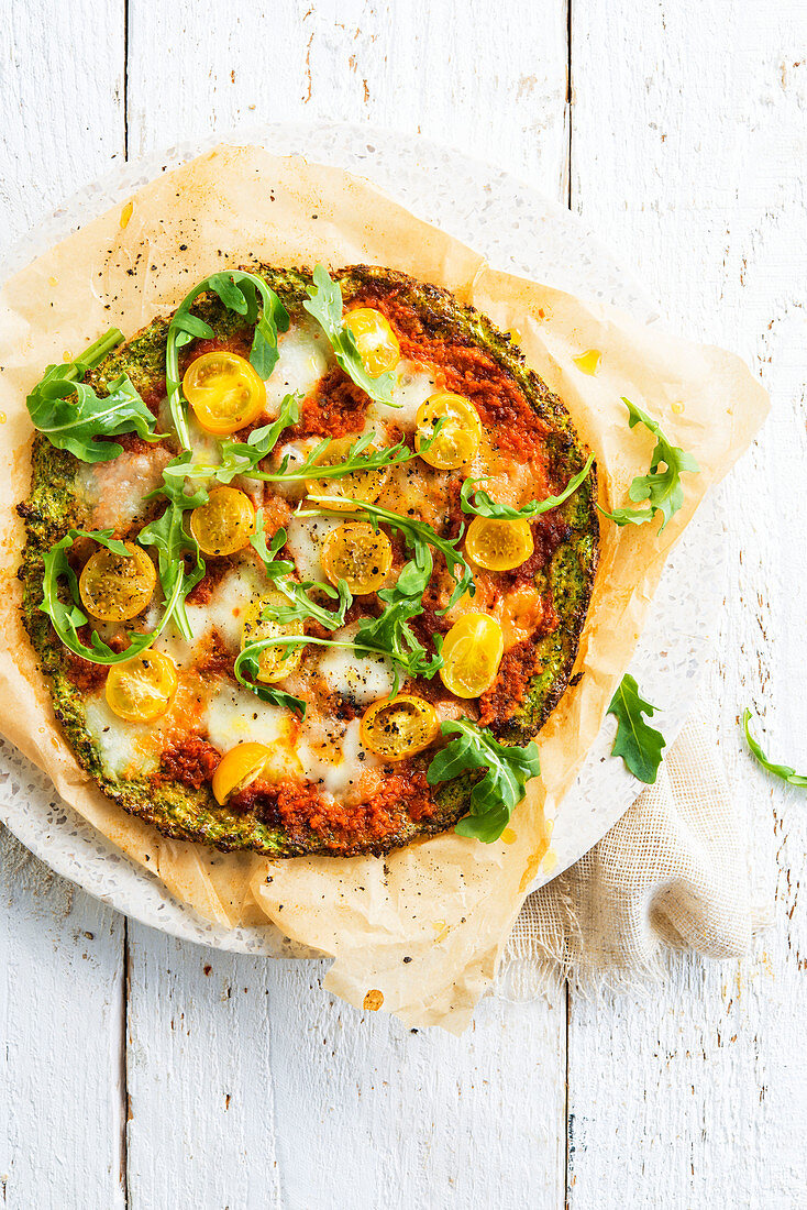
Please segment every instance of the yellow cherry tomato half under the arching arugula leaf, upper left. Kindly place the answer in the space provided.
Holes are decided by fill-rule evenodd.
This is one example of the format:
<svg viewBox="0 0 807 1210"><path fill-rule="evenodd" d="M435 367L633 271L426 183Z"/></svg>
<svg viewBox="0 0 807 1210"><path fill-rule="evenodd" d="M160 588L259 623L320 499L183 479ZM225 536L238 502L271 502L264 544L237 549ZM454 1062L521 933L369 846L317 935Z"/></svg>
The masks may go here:
<svg viewBox="0 0 807 1210"><path fill-rule="evenodd" d="M266 387L244 357L221 350L202 353L185 370L183 391L208 433L224 437L256 420Z"/></svg>

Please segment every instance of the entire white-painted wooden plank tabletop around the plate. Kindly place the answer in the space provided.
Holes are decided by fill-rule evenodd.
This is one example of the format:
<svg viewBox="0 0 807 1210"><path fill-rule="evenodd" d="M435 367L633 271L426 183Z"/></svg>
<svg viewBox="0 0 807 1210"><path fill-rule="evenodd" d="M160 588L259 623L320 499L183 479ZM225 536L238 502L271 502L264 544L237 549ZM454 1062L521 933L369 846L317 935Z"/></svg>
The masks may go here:
<svg viewBox="0 0 807 1210"><path fill-rule="evenodd" d="M709 687L774 923L647 999L491 999L455 1039L127 923L4 834L0 1205L806 1206L807 797L737 727L754 704L807 766L805 0L6 0L0 241L126 156L299 117L521 174L769 388Z"/></svg>

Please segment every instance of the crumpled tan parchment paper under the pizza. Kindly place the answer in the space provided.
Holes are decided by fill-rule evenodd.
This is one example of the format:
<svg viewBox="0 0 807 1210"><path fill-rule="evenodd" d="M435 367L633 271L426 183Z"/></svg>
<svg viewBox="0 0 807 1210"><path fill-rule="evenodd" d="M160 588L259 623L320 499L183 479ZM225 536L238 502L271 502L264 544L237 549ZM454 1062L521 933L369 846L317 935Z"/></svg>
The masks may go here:
<svg viewBox="0 0 807 1210"><path fill-rule="evenodd" d="M509 843L448 832L379 858L267 860L175 843L125 816L77 767L53 718L22 630L15 578L28 491L30 422L24 398L48 362L76 353L111 324L127 335L175 306L214 269L352 263L402 269L517 329L528 362L557 391L596 455L600 502L626 502L647 471L653 438L628 430L621 396L657 416L701 466L685 476L685 507L657 524L603 523L600 565L577 672L541 732L542 778L517 809ZM601 355L598 373L573 358ZM179 899L225 926L264 923L277 953L333 955L327 984L352 1004L410 1025L455 1032L490 985L548 826L599 731L633 653L667 555L707 489L749 444L767 397L745 365L523 278L413 217L369 183L336 168L221 146L139 190L131 206L86 225L0 292L0 730L58 793ZM289 944L290 943L290 944Z"/></svg>

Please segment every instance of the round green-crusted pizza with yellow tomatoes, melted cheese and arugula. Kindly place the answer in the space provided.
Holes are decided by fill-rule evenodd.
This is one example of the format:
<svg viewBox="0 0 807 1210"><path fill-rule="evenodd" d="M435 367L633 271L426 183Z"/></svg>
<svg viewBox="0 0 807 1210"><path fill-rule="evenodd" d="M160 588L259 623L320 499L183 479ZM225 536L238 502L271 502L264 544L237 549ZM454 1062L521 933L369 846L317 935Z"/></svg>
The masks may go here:
<svg viewBox="0 0 807 1210"><path fill-rule="evenodd" d="M273 857L502 835L599 544L517 339L390 269L254 265L48 367L23 622L105 795Z"/></svg>

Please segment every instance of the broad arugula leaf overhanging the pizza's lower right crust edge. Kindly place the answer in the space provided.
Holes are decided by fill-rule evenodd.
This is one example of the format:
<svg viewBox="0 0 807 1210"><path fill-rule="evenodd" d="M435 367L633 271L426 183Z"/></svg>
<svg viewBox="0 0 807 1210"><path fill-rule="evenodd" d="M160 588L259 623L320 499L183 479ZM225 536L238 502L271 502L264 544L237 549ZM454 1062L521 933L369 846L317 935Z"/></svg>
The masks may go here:
<svg viewBox="0 0 807 1210"><path fill-rule="evenodd" d="M484 768L485 776L474 782L471 790L471 812L454 830L460 836L472 836L491 845L498 840L526 794L526 783L541 772L537 744L532 741L524 748L502 744L486 727L467 719L444 722L440 731L456 738L433 757L426 780L437 785L461 773Z"/></svg>

